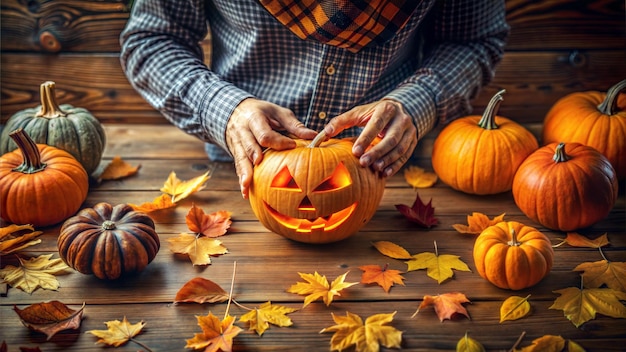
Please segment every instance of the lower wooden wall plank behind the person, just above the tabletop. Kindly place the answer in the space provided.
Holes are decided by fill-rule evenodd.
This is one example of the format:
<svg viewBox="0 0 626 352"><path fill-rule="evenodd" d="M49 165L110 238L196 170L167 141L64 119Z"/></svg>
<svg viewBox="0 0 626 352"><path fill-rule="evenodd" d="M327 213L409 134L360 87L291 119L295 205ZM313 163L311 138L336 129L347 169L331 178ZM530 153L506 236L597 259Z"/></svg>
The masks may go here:
<svg viewBox="0 0 626 352"><path fill-rule="evenodd" d="M624 50L585 51L583 67L567 62L569 52L507 52L495 81L474 101L482 114L491 96L507 94L502 116L522 123L541 122L556 100L575 91L606 90L626 76ZM130 86L117 54L40 56L3 54L0 122L39 105L39 85L57 83L58 101L90 110L104 123L162 124L166 120ZM86 64L88 62L88 64Z"/></svg>

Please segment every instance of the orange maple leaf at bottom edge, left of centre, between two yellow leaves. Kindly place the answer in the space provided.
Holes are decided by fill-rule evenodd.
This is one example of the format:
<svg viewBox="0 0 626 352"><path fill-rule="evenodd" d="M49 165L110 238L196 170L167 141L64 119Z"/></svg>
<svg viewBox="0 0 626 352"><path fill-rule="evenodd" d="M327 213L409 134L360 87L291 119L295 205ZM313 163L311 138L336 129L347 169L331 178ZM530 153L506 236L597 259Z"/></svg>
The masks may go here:
<svg viewBox="0 0 626 352"><path fill-rule="evenodd" d="M204 349L204 352L230 352L233 349L233 340L243 329L234 325L235 318L227 315L220 321L213 313L206 316L197 316L198 325L202 328L193 338L186 340L185 348L195 350Z"/></svg>

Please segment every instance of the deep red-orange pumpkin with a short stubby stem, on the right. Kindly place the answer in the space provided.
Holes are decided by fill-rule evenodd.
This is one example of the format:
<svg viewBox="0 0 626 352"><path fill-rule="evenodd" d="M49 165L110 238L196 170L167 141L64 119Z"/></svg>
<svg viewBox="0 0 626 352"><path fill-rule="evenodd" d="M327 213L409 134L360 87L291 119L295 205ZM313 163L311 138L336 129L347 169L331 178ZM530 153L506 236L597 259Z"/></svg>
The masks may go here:
<svg viewBox="0 0 626 352"><path fill-rule="evenodd" d="M513 181L515 204L543 226L573 231L604 219L617 200L609 160L580 143L551 143L520 166Z"/></svg>

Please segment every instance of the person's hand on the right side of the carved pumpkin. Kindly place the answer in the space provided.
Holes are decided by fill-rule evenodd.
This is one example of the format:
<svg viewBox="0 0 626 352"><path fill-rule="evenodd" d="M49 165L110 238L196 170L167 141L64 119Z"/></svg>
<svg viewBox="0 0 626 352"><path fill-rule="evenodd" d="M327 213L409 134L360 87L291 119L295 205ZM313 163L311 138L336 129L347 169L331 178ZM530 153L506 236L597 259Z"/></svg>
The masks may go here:
<svg viewBox="0 0 626 352"><path fill-rule="evenodd" d="M411 157L417 145L417 128L402 104L381 100L357 106L336 116L324 127L328 136L335 136L346 128L364 127L354 142L352 153L361 166L371 166L385 176L392 176ZM381 141L367 150L376 137ZM367 150L367 152L366 152Z"/></svg>

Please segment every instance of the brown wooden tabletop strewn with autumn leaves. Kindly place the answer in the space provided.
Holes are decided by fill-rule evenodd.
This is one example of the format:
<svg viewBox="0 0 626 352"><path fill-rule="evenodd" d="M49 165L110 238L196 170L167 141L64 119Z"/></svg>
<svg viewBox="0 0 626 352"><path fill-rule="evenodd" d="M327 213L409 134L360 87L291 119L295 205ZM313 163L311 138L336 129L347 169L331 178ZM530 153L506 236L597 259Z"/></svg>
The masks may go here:
<svg viewBox="0 0 626 352"><path fill-rule="evenodd" d="M234 341L237 351L309 351L330 349L331 333L320 334L323 328L334 325L331 313L345 315L351 312L363 319L378 313L397 312L392 326L401 330L402 350L454 350L457 341L466 332L481 342L487 350L509 350L525 332L519 347L530 345L544 335L560 335L571 339L588 351L624 351L626 320L598 315L576 328L561 310L548 309L559 296L553 291L580 285L580 273L572 269L582 262L602 258L597 249L574 248L563 245L555 248L551 273L535 287L508 291L498 289L482 279L472 259L473 236L461 235L453 224L466 224L467 215L482 212L489 217L506 213L505 220L516 220L537 227L556 244L564 233L546 230L527 219L515 206L509 193L494 196L472 196L456 192L441 182L434 187L420 189L424 201L432 199L439 224L423 229L405 220L395 204L411 205L416 191L401 173L389 180L379 209L360 232L345 241L310 245L296 243L266 230L255 218L247 200L242 199L232 164L212 164L205 157L202 143L169 125L107 125L108 144L103 162L121 156L133 165L141 165L139 173L119 181L106 181L91 187L84 206L98 202L135 203L151 201L160 194L170 171L181 180L198 176L214 169L204 190L181 201L176 208L153 213L161 249L155 260L141 274L113 282L101 281L78 272L59 276L58 291L39 289L32 294L9 287L0 298L0 341L6 341L9 351L20 347L38 346L42 351L88 351L106 349L95 344L96 338L88 330L106 329L104 322L122 320L144 321L143 332L136 339L152 351L183 351L187 339L200 332L195 316L212 312L223 317L227 305L173 304L177 291L187 281L203 277L229 290L233 263L237 272L233 295L247 307L258 307L271 301L298 309L288 316L291 327L271 325L262 335L247 329ZM428 155L432 136L420 142L418 157L411 163L430 169ZM603 221L580 233L595 238L608 234L610 246L604 253L611 261L626 261L626 197L624 182L620 196ZM192 204L205 213L227 210L232 213L232 225L221 237L228 254L213 257L212 264L193 266L187 258L174 255L167 240L188 232L185 215ZM54 253L60 226L44 229L43 242L31 247L32 255ZM381 255L372 242L387 240L406 248L410 253L433 252L437 241L440 254L453 254L468 264L471 272L456 271L454 277L438 284L427 277L424 270L404 273L405 285L395 285L386 293L377 285L357 284L341 292L327 307L319 300L302 309L304 296L288 293L287 289L303 281L298 273L318 272L329 280L348 273L346 281L359 282L359 266L388 264L389 268L406 271L404 261ZM57 254L55 253L55 257ZM6 265L2 263L2 266ZM462 292L471 303L464 304L471 319L458 316L440 322L432 307L422 309L412 317L425 295ZM499 323L500 305L509 296L531 295L529 316ZM14 306L21 309L40 302L59 300L71 308L86 304L84 320L79 330L67 330L46 341L46 336L24 327ZM230 314L240 317L247 311L230 307ZM128 343L115 350L137 351L140 347Z"/></svg>

